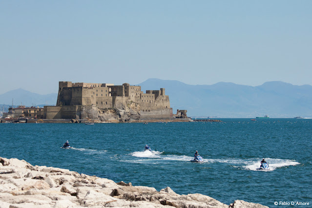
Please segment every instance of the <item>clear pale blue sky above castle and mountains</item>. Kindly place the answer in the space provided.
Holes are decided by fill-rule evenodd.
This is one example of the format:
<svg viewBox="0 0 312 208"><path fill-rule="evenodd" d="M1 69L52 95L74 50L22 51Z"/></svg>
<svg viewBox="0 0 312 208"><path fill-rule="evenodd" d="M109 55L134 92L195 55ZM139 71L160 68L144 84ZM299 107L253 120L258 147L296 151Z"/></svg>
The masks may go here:
<svg viewBox="0 0 312 208"><path fill-rule="evenodd" d="M0 0L0 94L59 81L312 85L311 0Z"/></svg>

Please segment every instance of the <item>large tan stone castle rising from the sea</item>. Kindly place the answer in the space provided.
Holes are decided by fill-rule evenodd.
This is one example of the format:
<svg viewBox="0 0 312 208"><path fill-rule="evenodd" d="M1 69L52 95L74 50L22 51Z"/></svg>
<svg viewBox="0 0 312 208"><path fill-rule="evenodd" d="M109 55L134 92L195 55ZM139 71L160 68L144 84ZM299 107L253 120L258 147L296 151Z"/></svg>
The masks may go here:
<svg viewBox="0 0 312 208"><path fill-rule="evenodd" d="M141 91L128 83L59 82L56 106L44 106L44 119L93 119L100 121L172 119L165 88Z"/></svg>

